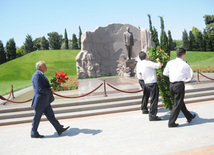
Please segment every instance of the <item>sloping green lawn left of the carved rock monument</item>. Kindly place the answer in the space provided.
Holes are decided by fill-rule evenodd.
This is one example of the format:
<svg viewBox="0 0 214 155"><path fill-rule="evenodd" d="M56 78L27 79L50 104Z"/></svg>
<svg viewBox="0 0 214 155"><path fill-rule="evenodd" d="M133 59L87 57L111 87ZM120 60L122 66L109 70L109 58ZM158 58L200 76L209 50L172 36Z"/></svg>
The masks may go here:
<svg viewBox="0 0 214 155"><path fill-rule="evenodd" d="M45 75L48 79L60 70L68 76L76 76L75 59L78 53L79 50L41 50L0 65L0 95L8 94L11 85L15 91L31 86L35 64L40 60L46 62L48 70Z"/></svg>

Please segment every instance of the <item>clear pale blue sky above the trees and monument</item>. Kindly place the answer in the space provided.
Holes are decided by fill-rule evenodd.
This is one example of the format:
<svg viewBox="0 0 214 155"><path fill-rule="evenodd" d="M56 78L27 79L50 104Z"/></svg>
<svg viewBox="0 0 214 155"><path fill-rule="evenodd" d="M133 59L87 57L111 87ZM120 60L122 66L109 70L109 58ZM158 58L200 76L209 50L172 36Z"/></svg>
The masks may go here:
<svg viewBox="0 0 214 155"><path fill-rule="evenodd" d="M50 32L64 36L66 28L72 39L79 26L84 33L112 23L149 29L148 14L159 33L162 16L166 33L181 40L184 29L203 31L203 16L214 15L214 0L0 0L0 40L5 47L14 38L20 47L27 34L33 39Z"/></svg>

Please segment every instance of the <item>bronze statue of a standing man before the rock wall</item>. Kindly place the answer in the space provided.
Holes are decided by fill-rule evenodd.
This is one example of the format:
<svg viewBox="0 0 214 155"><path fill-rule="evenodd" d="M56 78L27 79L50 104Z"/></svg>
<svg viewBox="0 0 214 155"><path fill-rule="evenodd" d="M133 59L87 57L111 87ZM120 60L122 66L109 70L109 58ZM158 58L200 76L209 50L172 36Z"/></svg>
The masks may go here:
<svg viewBox="0 0 214 155"><path fill-rule="evenodd" d="M126 28L126 32L123 34L124 36L124 42L126 46L126 50L128 53L128 58L131 59L132 57L132 46L134 46L134 38L132 32L130 32L130 28Z"/></svg>

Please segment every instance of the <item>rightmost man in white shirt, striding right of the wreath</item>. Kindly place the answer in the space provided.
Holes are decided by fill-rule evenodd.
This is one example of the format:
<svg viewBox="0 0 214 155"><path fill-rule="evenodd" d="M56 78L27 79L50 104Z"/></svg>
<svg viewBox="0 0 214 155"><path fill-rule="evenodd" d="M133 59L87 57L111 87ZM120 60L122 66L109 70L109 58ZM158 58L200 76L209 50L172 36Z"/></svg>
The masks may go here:
<svg viewBox="0 0 214 155"><path fill-rule="evenodd" d="M172 108L171 115L169 118L168 126L178 126L175 121L178 118L180 110L183 112L187 121L190 123L195 118L196 114L192 115L186 108L184 103L185 85L184 81L192 78L192 69L189 64L184 61L186 56L186 50L178 48L177 58L167 63L163 75L169 76L170 80L170 91L174 97L174 107Z"/></svg>

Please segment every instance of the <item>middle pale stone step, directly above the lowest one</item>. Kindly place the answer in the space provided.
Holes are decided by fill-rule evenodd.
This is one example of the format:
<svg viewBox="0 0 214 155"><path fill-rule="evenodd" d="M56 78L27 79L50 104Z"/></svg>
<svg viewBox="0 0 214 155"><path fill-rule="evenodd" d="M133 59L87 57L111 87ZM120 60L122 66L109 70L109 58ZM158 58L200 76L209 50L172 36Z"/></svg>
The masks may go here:
<svg viewBox="0 0 214 155"><path fill-rule="evenodd" d="M213 95L214 90L209 91L203 91L203 92L192 92L188 93L185 98L193 98L193 97L200 97L200 96L208 96ZM100 100L96 101L93 100L93 102L88 102L87 104L82 103L67 103L67 104L59 104L58 106L53 106L55 113L62 113L62 112L75 112L75 111L83 111L83 110L93 110L93 109L100 109L100 108L108 108L108 107L117 107L117 106L126 106L127 104L139 104L141 101L142 95L134 95L124 98L111 98L111 100L107 100L106 102L99 102ZM162 101L160 99L159 101ZM66 105L66 106L65 106ZM20 108L20 109L10 109L10 111L7 112L1 112L0 113L0 119L6 119L8 117L14 118L14 117L25 117L25 116L32 116L33 115L33 109L31 107L27 108Z"/></svg>

